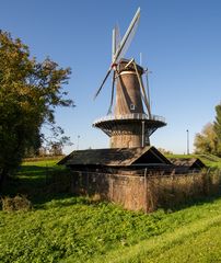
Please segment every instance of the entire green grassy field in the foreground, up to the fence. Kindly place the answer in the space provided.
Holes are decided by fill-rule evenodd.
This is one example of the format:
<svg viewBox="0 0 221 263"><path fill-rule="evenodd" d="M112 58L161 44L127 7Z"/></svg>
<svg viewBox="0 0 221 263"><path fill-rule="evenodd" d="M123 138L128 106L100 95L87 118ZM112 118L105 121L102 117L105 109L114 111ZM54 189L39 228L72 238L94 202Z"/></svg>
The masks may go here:
<svg viewBox="0 0 221 263"><path fill-rule="evenodd" d="M221 198L127 211L45 191L51 172L66 173L55 163L26 162L12 181L11 194L26 191L33 209L0 210L0 262L221 262Z"/></svg>

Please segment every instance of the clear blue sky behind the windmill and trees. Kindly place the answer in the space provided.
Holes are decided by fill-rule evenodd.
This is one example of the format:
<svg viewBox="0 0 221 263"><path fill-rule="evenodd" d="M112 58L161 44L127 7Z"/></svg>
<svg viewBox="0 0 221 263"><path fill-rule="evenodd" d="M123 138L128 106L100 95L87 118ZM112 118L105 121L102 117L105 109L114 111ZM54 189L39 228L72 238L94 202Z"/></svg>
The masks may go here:
<svg viewBox="0 0 221 263"><path fill-rule="evenodd" d="M190 150L196 133L214 118L221 101L220 0L0 0L0 27L30 46L38 60L49 56L71 67L66 89L75 108L58 108L57 123L80 149L106 148L108 137L92 128L106 114L111 87L92 98L111 62L112 28L124 35L138 7L141 19L127 57L139 59L152 71L152 112L166 118L151 144L173 152Z"/></svg>

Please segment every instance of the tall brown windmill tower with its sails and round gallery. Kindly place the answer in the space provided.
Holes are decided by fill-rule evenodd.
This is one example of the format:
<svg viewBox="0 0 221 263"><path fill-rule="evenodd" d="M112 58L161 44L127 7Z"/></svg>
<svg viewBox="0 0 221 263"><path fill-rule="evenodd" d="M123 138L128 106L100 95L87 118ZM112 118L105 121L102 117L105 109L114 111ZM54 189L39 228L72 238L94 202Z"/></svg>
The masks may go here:
<svg viewBox="0 0 221 263"><path fill-rule="evenodd" d="M139 19L140 8L121 41L118 41L118 31L116 27L114 28L112 65L95 94L96 98L113 71L108 115L93 123L94 127L102 129L111 137L111 148L132 148L150 145L150 136L158 128L166 125L163 117L151 113L149 91L147 95L142 80L146 75L148 88L148 70L137 65L135 59L123 59L135 35ZM116 103L114 113L112 113L115 83Z"/></svg>

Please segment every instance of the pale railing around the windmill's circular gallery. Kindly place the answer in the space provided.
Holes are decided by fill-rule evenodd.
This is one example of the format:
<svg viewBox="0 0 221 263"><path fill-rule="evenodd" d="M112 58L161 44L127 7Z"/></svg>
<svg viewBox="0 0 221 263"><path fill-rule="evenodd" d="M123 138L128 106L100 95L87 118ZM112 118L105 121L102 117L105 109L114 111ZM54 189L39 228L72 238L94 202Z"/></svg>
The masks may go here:
<svg viewBox="0 0 221 263"><path fill-rule="evenodd" d="M151 115L150 117L144 113L131 113L131 114L124 114L124 115L107 115L104 117L101 117L94 122L94 124L102 123L102 122L108 122L108 121L115 121L115 119L147 119L147 121L156 121L165 123L165 118L158 115Z"/></svg>

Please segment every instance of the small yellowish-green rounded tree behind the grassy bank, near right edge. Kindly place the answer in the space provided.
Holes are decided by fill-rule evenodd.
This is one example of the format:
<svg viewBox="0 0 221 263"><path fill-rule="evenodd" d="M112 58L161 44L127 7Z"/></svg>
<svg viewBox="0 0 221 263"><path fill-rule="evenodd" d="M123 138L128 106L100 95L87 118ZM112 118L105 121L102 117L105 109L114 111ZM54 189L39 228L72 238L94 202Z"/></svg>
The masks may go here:
<svg viewBox="0 0 221 263"><path fill-rule="evenodd" d="M197 153L217 155L218 137L213 124L208 123L201 134L196 135L194 145Z"/></svg>

